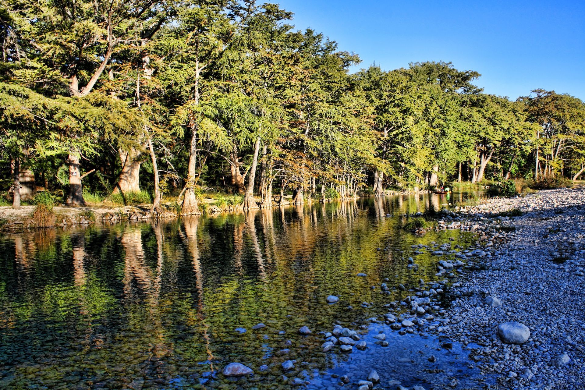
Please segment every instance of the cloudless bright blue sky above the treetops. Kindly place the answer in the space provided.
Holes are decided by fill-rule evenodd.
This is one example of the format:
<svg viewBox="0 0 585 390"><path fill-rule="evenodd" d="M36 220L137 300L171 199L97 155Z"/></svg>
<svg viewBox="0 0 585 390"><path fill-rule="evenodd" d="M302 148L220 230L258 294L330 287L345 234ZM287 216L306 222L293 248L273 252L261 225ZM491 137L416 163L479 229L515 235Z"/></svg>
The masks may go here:
<svg viewBox="0 0 585 390"><path fill-rule="evenodd" d="M585 0L273 0L297 29L322 32L384 70L452 61L479 87L515 100L554 89L585 100Z"/></svg>

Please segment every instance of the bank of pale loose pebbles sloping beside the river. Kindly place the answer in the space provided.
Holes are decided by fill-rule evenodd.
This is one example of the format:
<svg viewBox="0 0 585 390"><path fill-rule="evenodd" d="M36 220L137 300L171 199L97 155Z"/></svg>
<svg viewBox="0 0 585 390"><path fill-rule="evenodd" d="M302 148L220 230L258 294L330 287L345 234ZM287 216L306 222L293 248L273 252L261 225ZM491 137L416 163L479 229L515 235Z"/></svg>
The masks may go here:
<svg viewBox="0 0 585 390"><path fill-rule="evenodd" d="M511 209L522 215L500 217L501 225L515 230L454 285L449 321L437 333L478 344L469 348L471 364L495 375L495 388L585 388L585 191L495 199L461 214L490 218ZM525 343L498 337L498 325L512 321L528 327Z"/></svg>

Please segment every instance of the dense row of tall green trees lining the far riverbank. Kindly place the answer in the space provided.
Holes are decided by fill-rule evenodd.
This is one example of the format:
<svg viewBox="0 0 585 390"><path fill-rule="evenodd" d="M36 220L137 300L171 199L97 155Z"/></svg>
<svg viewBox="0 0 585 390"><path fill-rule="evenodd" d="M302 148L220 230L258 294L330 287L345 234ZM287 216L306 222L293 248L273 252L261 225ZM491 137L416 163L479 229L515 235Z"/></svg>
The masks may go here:
<svg viewBox="0 0 585 390"><path fill-rule="evenodd" d="M443 61L351 73L357 54L292 15L254 0L3 1L0 203L142 196L189 214L209 194L251 209L584 174L579 98L486 94Z"/></svg>

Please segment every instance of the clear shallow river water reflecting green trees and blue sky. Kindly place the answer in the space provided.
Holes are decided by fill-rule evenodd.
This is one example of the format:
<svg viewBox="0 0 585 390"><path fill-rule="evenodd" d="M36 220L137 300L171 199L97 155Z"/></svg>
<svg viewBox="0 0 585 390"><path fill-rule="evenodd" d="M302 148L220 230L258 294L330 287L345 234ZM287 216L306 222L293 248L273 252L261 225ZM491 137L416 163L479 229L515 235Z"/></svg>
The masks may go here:
<svg viewBox="0 0 585 390"><path fill-rule="evenodd" d="M428 202L443 201L389 196L0 236L0 388L281 388L289 359L287 377L309 388L339 388L338 375L357 382L372 368L380 388L453 378L473 388L479 371L460 346L367 320L414 294L399 284L436 280L429 254L417 271L406 267L412 245L473 242L458 230L402 230L402 215ZM335 324L367 324L369 347L324 353L319 332ZM374 344L379 332L387 347ZM230 361L256 373L225 378Z"/></svg>

